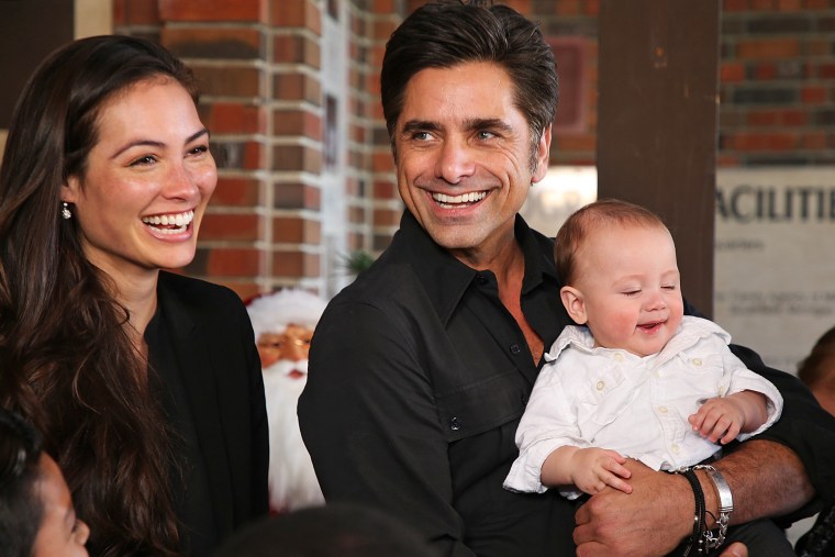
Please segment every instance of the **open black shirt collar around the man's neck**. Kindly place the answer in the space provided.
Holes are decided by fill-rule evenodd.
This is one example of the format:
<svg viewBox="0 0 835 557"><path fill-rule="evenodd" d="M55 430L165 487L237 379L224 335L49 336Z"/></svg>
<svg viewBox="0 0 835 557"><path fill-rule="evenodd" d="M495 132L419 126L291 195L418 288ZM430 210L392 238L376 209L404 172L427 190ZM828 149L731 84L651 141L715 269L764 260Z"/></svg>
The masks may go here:
<svg viewBox="0 0 835 557"><path fill-rule="evenodd" d="M553 250L550 241L532 231L519 214L514 223L514 234L525 258L522 293L541 285L543 275L556 280L556 269L550 259ZM396 249L391 249L391 253L402 254L434 304L442 322L446 324L479 271L464 265L449 252L438 246L408 210L403 211L400 230L392 239L392 246L394 244L399 245Z"/></svg>

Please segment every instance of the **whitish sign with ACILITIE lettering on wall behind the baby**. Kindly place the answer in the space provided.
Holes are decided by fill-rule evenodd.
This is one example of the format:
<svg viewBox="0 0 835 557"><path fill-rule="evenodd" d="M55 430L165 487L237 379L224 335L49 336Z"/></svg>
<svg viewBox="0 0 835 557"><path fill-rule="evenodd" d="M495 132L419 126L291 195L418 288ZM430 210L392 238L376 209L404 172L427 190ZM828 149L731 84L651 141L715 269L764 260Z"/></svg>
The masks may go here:
<svg viewBox="0 0 835 557"><path fill-rule="evenodd" d="M797 372L835 326L835 167L720 169L714 320Z"/></svg>

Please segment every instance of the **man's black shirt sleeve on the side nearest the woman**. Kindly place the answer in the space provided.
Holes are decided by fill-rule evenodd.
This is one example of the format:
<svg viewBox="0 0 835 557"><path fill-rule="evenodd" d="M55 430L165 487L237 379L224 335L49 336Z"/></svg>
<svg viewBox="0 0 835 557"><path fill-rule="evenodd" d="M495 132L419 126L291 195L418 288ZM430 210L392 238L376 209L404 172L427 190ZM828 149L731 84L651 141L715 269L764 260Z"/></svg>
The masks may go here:
<svg viewBox="0 0 835 557"><path fill-rule="evenodd" d="M447 443L412 335L379 309L331 307L316 325L299 423L329 502L382 509L443 555L474 556L453 508Z"/></svg>

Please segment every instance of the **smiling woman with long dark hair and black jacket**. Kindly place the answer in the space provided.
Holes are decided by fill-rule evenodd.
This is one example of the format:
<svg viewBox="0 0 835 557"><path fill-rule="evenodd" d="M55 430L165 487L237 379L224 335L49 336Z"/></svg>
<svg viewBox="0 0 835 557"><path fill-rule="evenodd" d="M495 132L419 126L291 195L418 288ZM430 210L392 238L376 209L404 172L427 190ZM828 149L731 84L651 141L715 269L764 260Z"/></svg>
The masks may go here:
<svg viewBox="0 0 835 557"><path fill-rule="evenodd" d="M79 40L35 70L0 168L0 403L56 457L91 555L205 555L267 511L258 354L191 261L216 183L192 75Z"/></svg>

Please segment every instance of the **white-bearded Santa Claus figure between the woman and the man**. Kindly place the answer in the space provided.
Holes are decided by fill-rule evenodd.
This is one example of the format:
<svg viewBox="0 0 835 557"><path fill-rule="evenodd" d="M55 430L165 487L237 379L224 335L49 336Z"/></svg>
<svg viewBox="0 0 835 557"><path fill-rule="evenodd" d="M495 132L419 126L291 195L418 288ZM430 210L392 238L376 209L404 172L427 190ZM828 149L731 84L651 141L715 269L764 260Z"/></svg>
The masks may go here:
<svg viewBox="0 0 835 557"><path fill-rule="evenodd" d="M269 506L274 513L324 503L299 431L296 405L308 379L308 350L326 302L286 289L247 304L264 371L269 421Z"/></svg>

